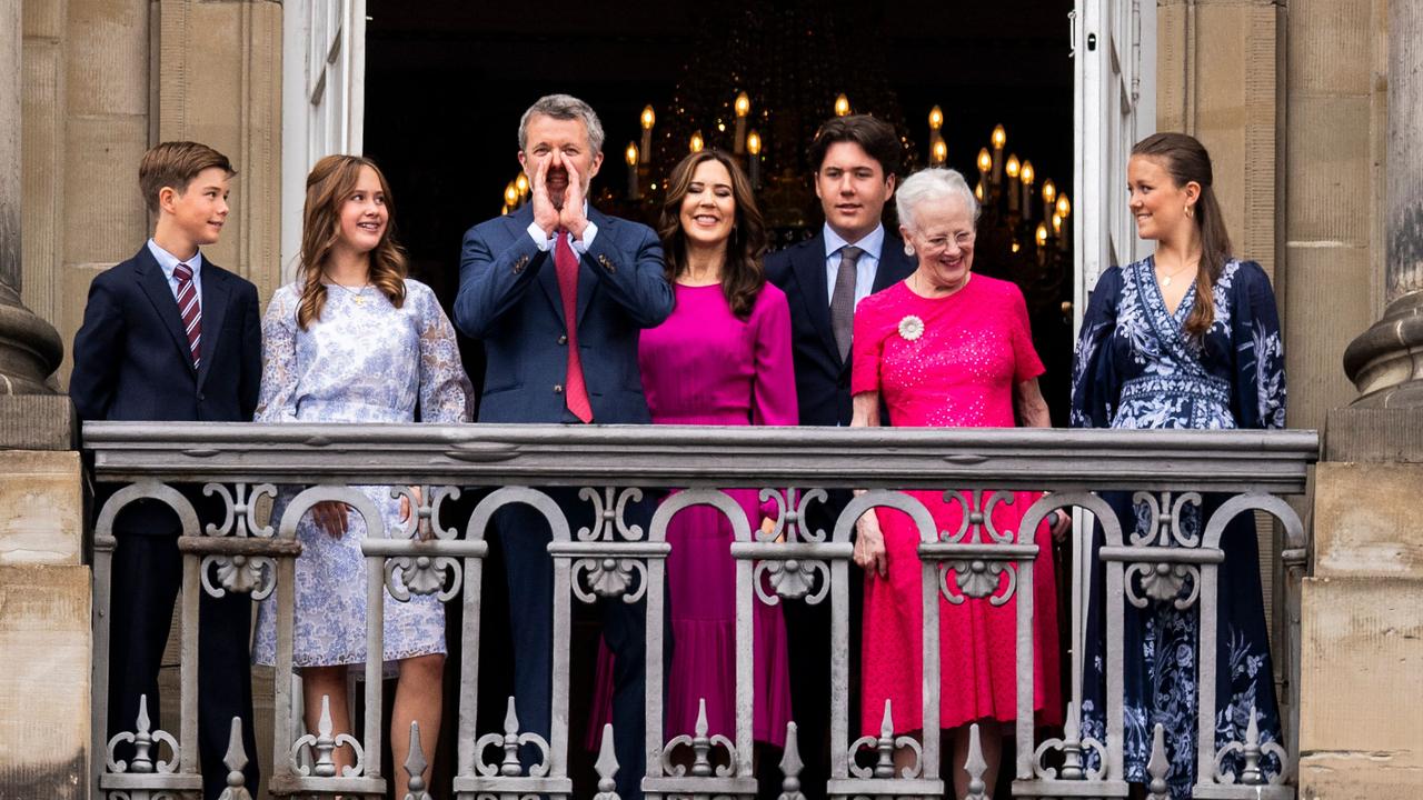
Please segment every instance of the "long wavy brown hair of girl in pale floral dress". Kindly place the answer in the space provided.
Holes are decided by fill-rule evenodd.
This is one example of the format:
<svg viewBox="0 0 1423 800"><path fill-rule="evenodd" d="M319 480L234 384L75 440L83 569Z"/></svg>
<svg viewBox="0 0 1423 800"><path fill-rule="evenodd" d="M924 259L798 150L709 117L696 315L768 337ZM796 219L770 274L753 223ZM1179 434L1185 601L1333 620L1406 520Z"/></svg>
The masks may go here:
<svg viewBox="0 0 1423 800"><path fill-rule="evenodd" d="M340 241L342 205L356 189L361 167L370 167L386 195L386 235L370 252L370 282L390 298L397 309L406 302L406 253L396 243L396 206L390 198L390 184L376 162L360 155L327 155L316 162L306 177L306 205L302 209L302 302L296 307L296 325L302 330L322 319L326 305L326 259Z"/></svg>

